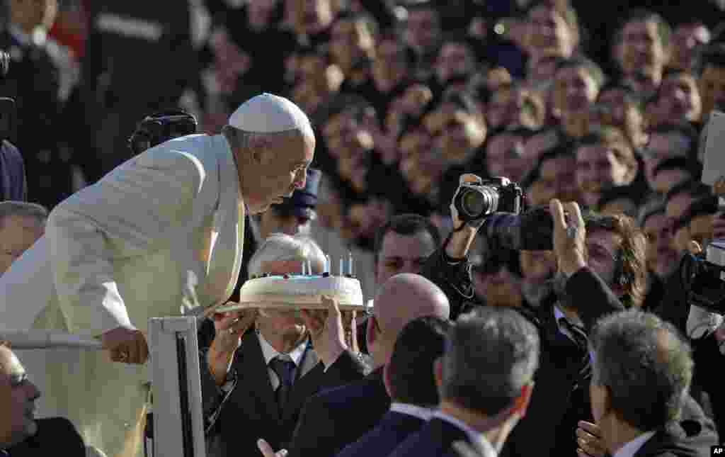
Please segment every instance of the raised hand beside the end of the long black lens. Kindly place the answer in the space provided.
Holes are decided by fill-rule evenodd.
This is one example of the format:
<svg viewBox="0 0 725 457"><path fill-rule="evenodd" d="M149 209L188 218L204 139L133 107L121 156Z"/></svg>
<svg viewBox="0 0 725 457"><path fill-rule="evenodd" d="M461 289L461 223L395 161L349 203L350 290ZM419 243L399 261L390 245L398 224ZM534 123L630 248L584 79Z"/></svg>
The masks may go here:
<svg viewBox="0 0 725 457"><path fill-rule="evenodd" d="M576 202L562 206L558 199L552 199L549 208L554 219L554 252L559 268L568 277L587 266L587 229Z"/></svg>

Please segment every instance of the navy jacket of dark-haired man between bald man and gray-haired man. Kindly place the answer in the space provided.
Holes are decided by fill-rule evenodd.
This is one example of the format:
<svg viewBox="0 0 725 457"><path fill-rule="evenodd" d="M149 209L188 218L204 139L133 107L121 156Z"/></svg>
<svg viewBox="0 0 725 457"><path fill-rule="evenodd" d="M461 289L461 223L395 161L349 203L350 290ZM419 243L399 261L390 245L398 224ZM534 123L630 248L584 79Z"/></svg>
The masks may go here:
<svg viewBox="0 0 725 457"><path fill-rule="evenodd" d="M426 421L410 414L388 411L378 426L347 445L337 457L387 456Z"/></svg>

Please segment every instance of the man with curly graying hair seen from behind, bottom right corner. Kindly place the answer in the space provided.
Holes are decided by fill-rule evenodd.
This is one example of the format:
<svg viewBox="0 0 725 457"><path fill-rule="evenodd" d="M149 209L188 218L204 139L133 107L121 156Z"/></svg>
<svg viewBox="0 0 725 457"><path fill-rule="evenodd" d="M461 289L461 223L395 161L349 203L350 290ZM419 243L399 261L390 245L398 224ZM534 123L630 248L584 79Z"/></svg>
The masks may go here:
<svg viewBox="0 0 725 457"><path fill-rule="evenodd" d="M672 324L627 310L602 318L590 341L592 411L612 455L711 455L711 446L718 444L712 422L702 411L683 414L694 362Z"/></svg>

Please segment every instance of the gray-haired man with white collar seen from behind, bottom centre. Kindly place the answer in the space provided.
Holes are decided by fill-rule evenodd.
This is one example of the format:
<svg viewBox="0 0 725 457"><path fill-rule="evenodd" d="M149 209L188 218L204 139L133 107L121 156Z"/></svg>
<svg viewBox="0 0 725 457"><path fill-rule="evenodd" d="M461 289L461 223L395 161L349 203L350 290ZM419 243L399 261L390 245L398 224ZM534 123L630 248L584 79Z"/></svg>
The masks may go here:
<svg viewBox="0 0 725 457"><path fill-rule="evenodd" d="M496 457L526 414L538 365L537 329L515 310L479 308L461 316L436 361L439 411L390 456L453 456L452 444L463 441Z"/></svg>

